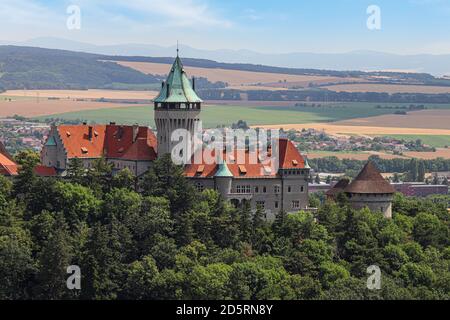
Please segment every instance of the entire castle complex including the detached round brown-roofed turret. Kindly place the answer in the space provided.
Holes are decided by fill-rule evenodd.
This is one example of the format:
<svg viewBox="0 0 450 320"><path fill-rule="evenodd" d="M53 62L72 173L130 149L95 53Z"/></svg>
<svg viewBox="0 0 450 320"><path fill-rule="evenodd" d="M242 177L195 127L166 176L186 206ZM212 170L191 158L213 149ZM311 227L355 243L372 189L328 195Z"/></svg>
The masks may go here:
<svg viewBox="0 0 450 320"><path fill-rule="evenodd" d="M184 136L195 136L200 124L202 100L195 92L195 81L184 71L181 59L176 57L167 80L162 83L154 99L157 135L148 127L138 125L52 125L41 150L41 164L35 167L39 176L65 176L73 159L80 159L86 169L93 161L105 158L113 173L129 169L137 179L152 163L166 154L180 153L179 141L173 134L182 130ZM177 136L178 137L178 136ZM260 143L260 142L258 142ZM187 143L187 145L189 145ZM258 145L259 146L259 145ZM275 145L250 150L245 146L213 148L192 145L182 158L196 159L197 154L208 151L213 161L198 157L200 161L185 161L184 174L199 190L217 190L236 206L248 201L253 209L263 208L268 219L280 211L309 210L308 180L310 167L297 148L287 138L277 138ZM184 151L184 149L182 149ZM253 152L253 153L252 153ZM182 152L181 152L182 153ZM268 165L263 153L277 159L277 166ZM19 166L0 143L0 174L17 176ZM392 199L395 189L368 162L359 175L350 182L339 181L327 192L329 199L344 193L353 208L368 207L392 217Z"/></svg>

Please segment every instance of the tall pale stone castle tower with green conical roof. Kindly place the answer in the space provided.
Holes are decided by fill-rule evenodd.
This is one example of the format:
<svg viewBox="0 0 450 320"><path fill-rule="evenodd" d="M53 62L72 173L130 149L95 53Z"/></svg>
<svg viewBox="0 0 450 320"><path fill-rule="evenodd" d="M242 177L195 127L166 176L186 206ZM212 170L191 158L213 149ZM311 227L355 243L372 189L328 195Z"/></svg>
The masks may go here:
<svg viewBox="0 0 450 320"><path fill-rule="evenodd" d="M192 140L195 127L200 121L201 103L203 102L195 93L195 82L189 81L184 71L181 59L178 56L170 69L167 80L162 83L159 95L154 99L155 122L158 131L158 157L164 154L176 152L174 147L182 139ZM189 133L188 137L183 136L177 141L172 141L172 133L177 129L185 129ZM177 151L179 152L179 151ZM190 154L181 154L185 159L189 159L194 150L188 150Z"/></svg>

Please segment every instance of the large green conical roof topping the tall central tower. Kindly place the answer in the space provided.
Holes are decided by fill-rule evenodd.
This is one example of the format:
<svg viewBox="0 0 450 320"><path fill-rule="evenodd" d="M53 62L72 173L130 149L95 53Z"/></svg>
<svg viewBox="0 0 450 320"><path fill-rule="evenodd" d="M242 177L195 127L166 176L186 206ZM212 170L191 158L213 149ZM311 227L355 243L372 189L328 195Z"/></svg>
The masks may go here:
<svg viewBox="0 0 450 320"><path fill-rule="evenodd" d="M169 90L167 90L169 86ZM167 92L169 91L169 92ZM183 64L180 57L177 55L175 62L170 69L166 82L164 82L159 95L153 100L154 102L168 102L168 103L195 103L203 102L194 89L192 89L191 82L184 72Z"/></svg>

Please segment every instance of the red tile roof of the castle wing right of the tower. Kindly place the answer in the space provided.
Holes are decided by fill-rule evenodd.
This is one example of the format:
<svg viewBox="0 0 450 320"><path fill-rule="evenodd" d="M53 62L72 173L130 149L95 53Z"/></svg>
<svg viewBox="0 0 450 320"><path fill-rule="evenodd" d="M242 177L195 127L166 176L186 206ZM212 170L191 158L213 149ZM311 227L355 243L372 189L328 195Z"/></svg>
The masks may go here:
<svg viewBox="0 0 450 320"><path fill-rule="evenodd" d="M201 151L199 151L201 152ZM210 151L207 151L208 154ZM288 139L280 139L279 142L279 167L280 169L303 169L305 168L305 160L301 156L300 152L295 148L291 141ZM214 150L211 150L211 155L215 158ZM237 158L237 150L233 150L230 154L223 151L222 157L226 160L228 169L237 178L264 178L264 177L275 177L278 172L271 170L269 166L265 166L258 160L258 157L250 153L248 150L245 151L245 159L243 163L236 163L239 161ZM252 159L256 158L256 161ZM195 159L193 157L193 159ZM194 161L192 161L194 162ZM256 163L255 163L256 162ZM212 164L207 164L205 159L202 163L198 164L188 164L185 167L185 175L187 177L213 177L218 170L218 165L216 161Z"/></svg>

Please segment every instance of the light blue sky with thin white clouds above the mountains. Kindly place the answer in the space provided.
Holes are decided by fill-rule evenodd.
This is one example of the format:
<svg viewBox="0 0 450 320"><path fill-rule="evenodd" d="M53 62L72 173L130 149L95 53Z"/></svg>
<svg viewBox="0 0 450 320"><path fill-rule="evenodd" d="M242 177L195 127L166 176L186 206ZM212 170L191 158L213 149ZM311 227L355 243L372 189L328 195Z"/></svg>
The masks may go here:
<svg viewBox="0 0 450 320"><path fill-rule="evenodd" d="M69 5L81 29L68 30ZM366 27L369 5L381 30ZM450 53L450 0L1 0L0 40L181 43L266 53Z"/></svg>

